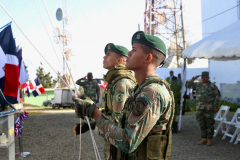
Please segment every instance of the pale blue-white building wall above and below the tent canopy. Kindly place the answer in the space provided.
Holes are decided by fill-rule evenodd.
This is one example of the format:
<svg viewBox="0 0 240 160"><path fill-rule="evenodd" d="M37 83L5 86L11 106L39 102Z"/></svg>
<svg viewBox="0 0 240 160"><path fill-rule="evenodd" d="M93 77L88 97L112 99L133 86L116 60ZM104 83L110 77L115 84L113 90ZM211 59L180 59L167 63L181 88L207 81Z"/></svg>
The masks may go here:
<svg viewBox="0 0 240 160"><path fill-rule="evenodd" d="M237 6L240 0L202 0L202 21ZM240 20L240 6L202 22L203 38ZM208 62L210 80L221 90L223 83L240 81L240 60Z"/></svg>

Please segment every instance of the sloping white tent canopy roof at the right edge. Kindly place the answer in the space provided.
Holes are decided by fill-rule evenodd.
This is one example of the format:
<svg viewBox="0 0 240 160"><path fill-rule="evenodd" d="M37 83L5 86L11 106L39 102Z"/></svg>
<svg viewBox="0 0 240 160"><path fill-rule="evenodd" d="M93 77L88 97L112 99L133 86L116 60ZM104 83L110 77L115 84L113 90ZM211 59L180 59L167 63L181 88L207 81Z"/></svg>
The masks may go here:
<svg viewBox="0 0 240 160"><path fill-rule="evenodd" d="M220 61L240 59L240 20L186 48L183 56Z"/></svg>

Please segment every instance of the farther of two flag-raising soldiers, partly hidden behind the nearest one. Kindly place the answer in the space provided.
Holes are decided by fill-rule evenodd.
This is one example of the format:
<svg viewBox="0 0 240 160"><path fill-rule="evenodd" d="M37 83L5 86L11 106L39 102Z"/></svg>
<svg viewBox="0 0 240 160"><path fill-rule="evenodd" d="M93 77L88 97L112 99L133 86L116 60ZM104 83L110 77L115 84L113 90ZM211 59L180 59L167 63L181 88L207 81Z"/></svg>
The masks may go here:
<svg viewBox="0 0 240 160"><path fill-rule="evenodd" d="M108 85L104 93L104 110L102 113L104 113L115 125L121 127L120 119L123 115L122 109L130 92L136 86L136 80L132 71L125 68L128 57L127 48L109 43L106 45L104 51L103 68L108 69L107 74L104 76L104 80ZM84 123L84 125L87 124ZM76 126L76 128L78 127ZM111 146L109 142L105 141L105 160L112 159L111 150L114 150L114 148L115 147Z"/></svg>

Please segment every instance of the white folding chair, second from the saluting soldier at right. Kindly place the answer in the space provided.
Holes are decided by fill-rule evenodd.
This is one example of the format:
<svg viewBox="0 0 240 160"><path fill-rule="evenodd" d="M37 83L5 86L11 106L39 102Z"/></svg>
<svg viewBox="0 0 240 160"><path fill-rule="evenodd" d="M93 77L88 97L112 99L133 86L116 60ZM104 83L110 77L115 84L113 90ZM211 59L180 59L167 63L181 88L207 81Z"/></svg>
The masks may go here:
<svg viewBox="0 0 240 160"><path fill-rule="evenodd" d="M231 121L223 120L223 123L225 123L227 125L227 129L226 129L226 132L224 133L222 139L225 139L226 136L231 137L230 143L232 143L234 138L236 137L238 128L236 128L234 134L230 134L229 130L231 128L231 125L233 125L233 126L240 125L240 120L238 118L239 114L240 114L240 108L237 109L237 111L234 114L234 116L233 116Z"/></svg>

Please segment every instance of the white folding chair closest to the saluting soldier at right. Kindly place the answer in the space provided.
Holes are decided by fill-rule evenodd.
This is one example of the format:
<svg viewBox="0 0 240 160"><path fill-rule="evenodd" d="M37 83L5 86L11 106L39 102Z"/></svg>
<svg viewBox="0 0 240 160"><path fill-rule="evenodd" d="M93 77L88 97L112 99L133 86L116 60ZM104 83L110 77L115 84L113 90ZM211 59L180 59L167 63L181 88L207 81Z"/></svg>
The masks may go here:
<svg viewBox="0 0 240 160"><path fill-rule="evenodd" d="M216 136L217 136L220 128L221 128L222 134L225 132L225 131L223 130L222 122L223 122L223 120L226 120L226 116L227 116L227 113L228 113L229 109L230 109L230 107L228 107L228 106L221 106L221 108L219 109L216 117L214 118L215 121L219 121L219 124L218 124L218 126L217 126L217 129L214 130L214 135L213 135L213 137L216 137ZM223 113L223 115L222 115L222 111L225 111L225 112Z"/></svg>

